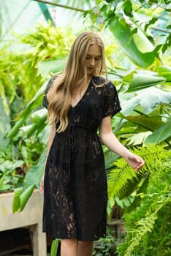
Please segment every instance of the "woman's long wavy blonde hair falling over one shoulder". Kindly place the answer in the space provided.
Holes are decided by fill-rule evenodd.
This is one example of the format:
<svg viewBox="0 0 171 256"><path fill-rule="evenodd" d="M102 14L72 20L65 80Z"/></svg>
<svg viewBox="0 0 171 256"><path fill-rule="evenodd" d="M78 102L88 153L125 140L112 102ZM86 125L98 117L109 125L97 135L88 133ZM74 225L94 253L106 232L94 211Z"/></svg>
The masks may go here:
<svg viewBox="0 0 171 256"><path fill-rule="evenodd" d="M82 85L81 88L87 84L86 56L90 45L99 45L102 50L99 69L95 70L93 75L99 76L104 71L107 79L102 39L99 34L92 31L80 34L72 45L64 72L56 77L52 88L47 93L47 101L49 102L47 120L50 121L50 124L60 121L57 132L64 132L68 125L67 113L71 105L72 92L80 84Z"/></svg>

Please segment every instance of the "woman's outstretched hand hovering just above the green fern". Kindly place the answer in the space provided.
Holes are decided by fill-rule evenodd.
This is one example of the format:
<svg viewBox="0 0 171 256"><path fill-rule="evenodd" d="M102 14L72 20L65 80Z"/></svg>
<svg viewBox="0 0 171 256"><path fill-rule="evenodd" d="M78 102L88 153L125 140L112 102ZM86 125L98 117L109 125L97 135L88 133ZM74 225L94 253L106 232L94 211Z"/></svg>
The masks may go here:
<svg viewBox="0 0 171 256"><path fill-rule="evenodd" d="M141 167L145 164L144 160L141 157L138 157L136 154L130 154L126 155L125 157L126 162L128 162L129 165L134 168L135 172L137 173Z"/></svg>

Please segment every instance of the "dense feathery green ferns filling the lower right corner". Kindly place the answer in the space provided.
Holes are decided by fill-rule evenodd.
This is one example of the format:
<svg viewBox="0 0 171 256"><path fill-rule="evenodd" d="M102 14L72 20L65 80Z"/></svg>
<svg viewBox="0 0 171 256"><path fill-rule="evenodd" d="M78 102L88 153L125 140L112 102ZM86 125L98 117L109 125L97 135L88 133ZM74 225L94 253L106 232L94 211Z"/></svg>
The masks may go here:
<svg viewBox="0 0 171 256"><path fill-rule="evenodd" d="M120 256L170 255L171 230L171 150L163 146L147 146L134 153L145 159L144 170L148 170L148 186L138 190L140 204L124 214L126 241L118 246ZM143 170L143 171L144 171ZM139 194L140 193L140 194Z"/></svg>

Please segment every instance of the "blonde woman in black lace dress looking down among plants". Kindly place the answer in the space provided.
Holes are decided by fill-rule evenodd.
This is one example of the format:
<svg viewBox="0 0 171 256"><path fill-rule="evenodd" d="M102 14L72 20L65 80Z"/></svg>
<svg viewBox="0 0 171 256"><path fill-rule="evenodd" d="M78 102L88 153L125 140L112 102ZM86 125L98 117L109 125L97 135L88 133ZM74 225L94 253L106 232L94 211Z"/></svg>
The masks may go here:
<svg viewBox="0 0 171 256"><path fill-rule="evenodd" d="M43 231L61 238L61 256L89 256L93 241L105 236L107 181L100 140L136 172L144 164L112 132L111 117L121 107L113 83L100 76L104 71L102 39L86 31L75 39L63 74L50 79L43 100L51 124L41 185Z"/></svg>

